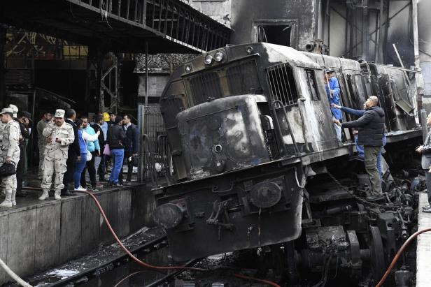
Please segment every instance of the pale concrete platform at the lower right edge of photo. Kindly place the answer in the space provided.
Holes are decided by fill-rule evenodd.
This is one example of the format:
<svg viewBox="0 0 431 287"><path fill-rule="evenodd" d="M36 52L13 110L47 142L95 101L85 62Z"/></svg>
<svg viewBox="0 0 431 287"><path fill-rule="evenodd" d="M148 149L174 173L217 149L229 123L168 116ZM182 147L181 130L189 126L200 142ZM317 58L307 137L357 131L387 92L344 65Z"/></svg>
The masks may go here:
<svg viewBox="0 0 431 287"><path fill-rule="evenodd" d="M422 207L428 205L428 196L421 193L419 196L418 230L431 228L431 213L423 213ZM418 236L416 247L416 287L429 287L431 285L431 233Z"/></svg>

